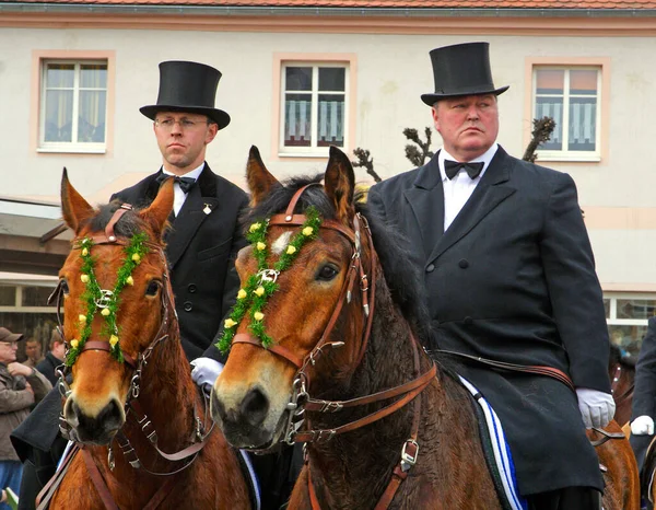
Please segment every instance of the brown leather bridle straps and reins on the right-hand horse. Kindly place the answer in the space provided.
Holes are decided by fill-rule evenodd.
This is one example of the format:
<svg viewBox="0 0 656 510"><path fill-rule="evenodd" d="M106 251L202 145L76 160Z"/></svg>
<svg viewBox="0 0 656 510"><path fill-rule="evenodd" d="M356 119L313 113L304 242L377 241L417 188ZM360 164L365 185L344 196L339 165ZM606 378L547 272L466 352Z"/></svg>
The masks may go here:
<svg viewBox="0 0 656 510"><path fill-rule="evenodd" d="M283 215L274 215L271 217L271 219L269 220L269 227L302 225L305 222L306 217L305 215L294 215L294 209L298 199L301 198L301 195L309 186L315 185L318 185L318 183L309 184L300 188L292 197L286 208L286 211ZM267 350L283 358L296 368L296 373L294 375L294 382L292 385L292 395L290 402L286 405L289 414L288 420L283 433L283 439L281 441L290 445L297 442L304 442L306 444L326 443L337 434L350 432L352 430L356 430L361 427L373 424L399 410L411 401L414 401L414 414L412 418L410 437L403 443L400 451L399 462L395 465L393 470L390 482L375 507L376 510L383 510L390 505L400 484L403 482L403 479L407 478L410 468L417 463L419 454L418 436L421 417L421 398L415 397L420 393L422 393L423 390L425 390L431 383L431 381L435 378L437 373L437 367L435 366L435 363L432 363L431 369L429 369L423 374L421 373L421 347L419 346L419 343L417 341L412 333L410 333L412 338L411 344L413 349L414 361L414 379L412 379L411 381L399 386L395 386L371 395L355 397L349 401L324 401L315 399L309 396L308 389L311 379L307 374L307 369L311 366L314 367L316 364L317 360L320 358L320 356L325 352L326 349L340 348L344 345L343 341L329 341L329 338L332 334L332 331L335 329L335 326L342 312L344 304L351 303L355 281L360 281L360 291L362 292L363 310L364 315L366 317L366 323L363 327L362 343L358 359L355 361L355 367L360 366L366 351L366 347L372 332L376 298L375 292L377 256L374 250L371 230L366 218L364 218L360 213L356 213L353 217L352 230L347 229L343 224L335 220L324 220L321 222L320 229L336 231L349 241L352 247L351 264L344 278L344 283L342 286L337 305L332 311L332 315L330 316L330 320L328 321L324 333L321 334L319 340L314 346L314 348L303 358L296 356L290 349L280 345L272 345L267 348ZM371 275L367 275L365 273L365 268L362 262L363 241L368 245L370 248L368 265ZM250 344L262 349L265 348L258 338L255 338L249 334L235 335L233 344ZM305 415L305 412L333 414L345 408L364 406L395 397L398 398L391 404L388 404L387 406L374 413L371 413L370 415L366 415L362 418L359 418L354 421L350 421L331 429L313 429L309 419ZM319 510L320 506L318 502L314 484L312 482L307 450L305 451L305 463L307 465L308 472L307 480L312 508L313 510Z"/></svg>

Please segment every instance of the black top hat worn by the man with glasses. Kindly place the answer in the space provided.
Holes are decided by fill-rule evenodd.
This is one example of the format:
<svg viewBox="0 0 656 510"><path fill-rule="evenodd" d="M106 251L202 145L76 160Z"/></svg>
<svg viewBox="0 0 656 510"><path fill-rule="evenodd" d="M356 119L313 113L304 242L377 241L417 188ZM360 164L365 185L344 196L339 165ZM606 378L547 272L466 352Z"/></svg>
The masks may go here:
<svg viewBox="0 0 656 510"><path fill-rule="evenodd" d="M216 86L221 72L198 62L169 60L160 63L160 93L157 104L139 108L154 120L157 112L188 112L207 115L223 129L230 124L230 115L214 108Z"/></svg>

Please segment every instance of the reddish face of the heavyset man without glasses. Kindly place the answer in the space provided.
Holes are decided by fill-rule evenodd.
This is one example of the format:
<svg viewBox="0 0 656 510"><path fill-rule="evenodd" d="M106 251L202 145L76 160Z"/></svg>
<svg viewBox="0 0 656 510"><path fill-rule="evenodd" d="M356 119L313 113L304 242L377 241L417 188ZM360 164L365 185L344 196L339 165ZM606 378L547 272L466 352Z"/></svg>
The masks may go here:
<svg viewBox="0 0 656 510"><path fill-rule="evenodd" d="M499 135L499 109L493 94L441 100L431 112L444 149L458 161L483 154Z"/></svg>

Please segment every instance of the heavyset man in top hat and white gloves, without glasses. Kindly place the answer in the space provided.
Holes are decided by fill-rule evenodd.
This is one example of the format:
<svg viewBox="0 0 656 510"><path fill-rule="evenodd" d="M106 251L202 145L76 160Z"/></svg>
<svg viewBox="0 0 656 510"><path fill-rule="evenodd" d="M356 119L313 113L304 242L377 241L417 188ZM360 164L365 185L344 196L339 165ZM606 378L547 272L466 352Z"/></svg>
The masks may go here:
<svg viewBox="0 0 656 510"><path fill-rule="evenodd" d="M488 43L431 51L423 94L444 146L425 165L375 185L373 210L409 235L441 349L546 366L501 372L449 355L492 404L529 509L600 508L602 479L585 436L612 419L601 288L567 174L517 160L496 143Z"/></svg>

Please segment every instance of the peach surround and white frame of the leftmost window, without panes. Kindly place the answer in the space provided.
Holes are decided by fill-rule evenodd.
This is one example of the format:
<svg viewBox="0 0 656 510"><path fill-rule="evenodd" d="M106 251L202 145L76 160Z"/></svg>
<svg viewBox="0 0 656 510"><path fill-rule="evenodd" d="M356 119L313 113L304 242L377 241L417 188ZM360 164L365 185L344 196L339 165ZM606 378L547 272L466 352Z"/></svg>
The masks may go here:
<svg viewBox="0 0 656 510"><path fill-rule="evenodd" d="M45 69L46 63L98 63L107 66L105 98L105 141L104 142L45 142ZM30 149L36 153L79 153L107 154L114 146L115 108L115 50L58 50L35 49L32 51L32 92L31 92L31 136Z"/></svg>

